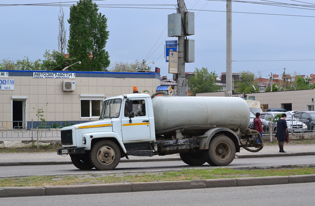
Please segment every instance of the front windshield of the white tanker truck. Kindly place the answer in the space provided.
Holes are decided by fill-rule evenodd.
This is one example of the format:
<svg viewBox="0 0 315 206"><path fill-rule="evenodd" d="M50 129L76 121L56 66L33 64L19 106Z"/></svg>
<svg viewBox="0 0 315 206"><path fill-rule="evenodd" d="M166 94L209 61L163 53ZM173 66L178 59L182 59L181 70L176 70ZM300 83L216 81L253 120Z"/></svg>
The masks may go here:
<svg viewBox="0 0 315 206"><path fill-rule="evenodd" d="M119 117L121 99L105 100L100 113L100 119Z"/></svg>

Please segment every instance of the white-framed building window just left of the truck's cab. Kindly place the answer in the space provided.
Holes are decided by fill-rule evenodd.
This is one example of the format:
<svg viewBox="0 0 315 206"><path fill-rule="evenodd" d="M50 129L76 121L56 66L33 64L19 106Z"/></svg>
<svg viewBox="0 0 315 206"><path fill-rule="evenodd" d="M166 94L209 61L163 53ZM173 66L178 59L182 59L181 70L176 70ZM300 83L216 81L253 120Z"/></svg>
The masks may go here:
<svg viewBox="0 0 315 206"><path fill-rule="evenodd" d="M99 118L103 95L81 95L80 96L80 117Z"/></svg>

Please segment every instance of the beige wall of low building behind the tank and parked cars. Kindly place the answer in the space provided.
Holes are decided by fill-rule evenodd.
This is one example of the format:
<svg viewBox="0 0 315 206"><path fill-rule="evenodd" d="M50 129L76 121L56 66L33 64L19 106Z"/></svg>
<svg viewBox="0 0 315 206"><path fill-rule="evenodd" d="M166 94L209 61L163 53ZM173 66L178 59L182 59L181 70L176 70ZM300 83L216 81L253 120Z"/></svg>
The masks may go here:
<svg viewBox="0 0 315 206"><path fill-rule="evenodd" d="M224 92L199 93L196 96L224 96ZM307 111L307 105L314 105L312 98L315 97L315 90L257 92L247 96L255 96L255 100L260 101L261 104L268 104L269 108L283 108L281 104L292 103L292 110Z"/></svg>

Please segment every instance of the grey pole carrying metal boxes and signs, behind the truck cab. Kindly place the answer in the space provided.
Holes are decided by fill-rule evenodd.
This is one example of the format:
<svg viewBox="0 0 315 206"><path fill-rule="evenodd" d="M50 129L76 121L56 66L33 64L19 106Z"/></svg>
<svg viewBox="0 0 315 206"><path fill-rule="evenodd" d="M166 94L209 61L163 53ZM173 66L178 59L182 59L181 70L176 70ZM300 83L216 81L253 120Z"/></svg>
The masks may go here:
<svg viewBox="0 0 315 206"><path fill-rule="evenodd" d="M184 0L178 0L178 13L181 14L181 18L185 19L185 2ZM178 78L177 83L177 95L186 96L186 79L185 79L185 33L184 28L181 28L181 36L178 36ZM174 74L175 75L175 74Z"/></svg>

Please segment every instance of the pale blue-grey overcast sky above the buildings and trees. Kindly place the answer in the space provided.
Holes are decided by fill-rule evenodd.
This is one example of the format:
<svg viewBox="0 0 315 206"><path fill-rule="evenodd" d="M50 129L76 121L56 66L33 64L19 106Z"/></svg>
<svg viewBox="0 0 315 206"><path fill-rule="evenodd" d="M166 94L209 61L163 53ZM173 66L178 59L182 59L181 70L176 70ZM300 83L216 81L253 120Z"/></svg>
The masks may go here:
<svg viewBox="0 0 315 206"><path fill-rule="evenodd" d="M75 4L60 0L63 5ZM249 2L249 0L244 0ZM315 2L313 0L251 0L256 3L232 1L232 72L251 71L266 77L271 72L310 75L315 73ZM58 50L58 6L5 4L57 3L54 0L2 0L0 1L0 62L3 59L30 61L43 60L46 50ZM71 3L65 3L71 2ZM258 3L287 3L263 5ZM304 2L304 3L301 3ZM161 68L161 76L172 78L164 58L168 14L176 13L176 0L99 0L99 12L107 18L110 32L106 44L111 64L134 62L136 59L154 61ZM107 5L106 5L107 4ZM116 5L108 5L116 4ZM154 6L123 6L119 4L158 4ZM169 6L162 6L163 4ZM222 0L186 0L188 11L195 12L195 62L186 63L185 71L208 68L209 72L226 72L226 2ZM55 5L55 4L54 4ZM151 7L112 8L112 7ZM298 8L289 8L298 7ZM166 9L170 8L170 9ZM192 10L190 10L192 9ZM195 10L193 10L195 9ZM200 11L200 10L208 11ZM69 7L63 7L67 39L69 37ZM262 14L249 14L262 13ZM269 15L281 14L281 15ZM295 15L295 16L287 16ZM304 17L302 17L304 16ZM310 16L310 17L306 17ZM165 29L165 30L164 30ZM273 61L270 61L273 60Z"/></svg>

